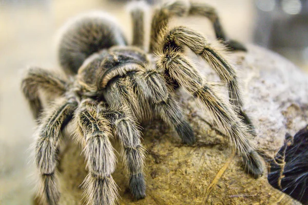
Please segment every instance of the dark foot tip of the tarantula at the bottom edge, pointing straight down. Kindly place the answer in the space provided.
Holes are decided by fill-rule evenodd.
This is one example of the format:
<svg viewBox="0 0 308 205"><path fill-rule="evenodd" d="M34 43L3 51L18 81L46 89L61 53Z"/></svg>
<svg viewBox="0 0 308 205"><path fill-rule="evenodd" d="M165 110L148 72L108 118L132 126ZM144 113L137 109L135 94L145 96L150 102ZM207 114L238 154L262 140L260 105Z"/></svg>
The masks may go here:
<svg viewBox="0 0 308 205"><path fill-rule="evenodd" d="M139 200L145 197L145 180L142 173L132 174L129 179L130 192L134 199Z"/></svg>

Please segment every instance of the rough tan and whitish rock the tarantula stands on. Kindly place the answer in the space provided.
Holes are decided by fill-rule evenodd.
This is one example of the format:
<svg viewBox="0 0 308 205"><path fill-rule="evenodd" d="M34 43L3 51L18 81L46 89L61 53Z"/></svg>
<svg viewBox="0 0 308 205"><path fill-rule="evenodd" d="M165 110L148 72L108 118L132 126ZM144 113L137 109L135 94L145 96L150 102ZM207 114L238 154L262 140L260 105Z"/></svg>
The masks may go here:
<svg viewBox="0 0 308 205"><path fill-rule="evenodd" d="M274 156L285 133L294 135L308 122L308 78L277 54L256 46L248 46L248 50L230 56L242 79L245 109L256 127L258 148ZM204 63L199 67L205 68L208 80L218 81ZM128 176L118 156L113 178L119 186L120 204L300 204L272 188L266 170L259 179L247 175L239 157L230 157L232 152L215 125L214 129L211 126L210 117L186 93L179 91L179 95L198 143L191 147L183 145L176 132L159 120L142 125L143 145L148 152L147 196L133 201ZM114 147L119 148L117 142ZM228 159L231 162L226 171L205 197L208 186ZM87 172L81 149L73 142L62 155L59 173L61 204L83 204L80 185Z"/></svg>

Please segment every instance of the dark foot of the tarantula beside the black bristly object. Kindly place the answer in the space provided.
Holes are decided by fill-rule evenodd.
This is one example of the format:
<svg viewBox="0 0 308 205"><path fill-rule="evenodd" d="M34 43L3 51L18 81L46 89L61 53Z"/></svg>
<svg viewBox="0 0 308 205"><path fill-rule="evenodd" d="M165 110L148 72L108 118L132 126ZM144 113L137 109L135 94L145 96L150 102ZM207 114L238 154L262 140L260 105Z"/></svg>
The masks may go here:
<svg viewBox="0 0 308 205"><path fill-rule="evenodd" d="M256 151L252 151L246 156L243 156L243 165L245 166L245 171L255 178L263 176L261 157Z"/></svg>

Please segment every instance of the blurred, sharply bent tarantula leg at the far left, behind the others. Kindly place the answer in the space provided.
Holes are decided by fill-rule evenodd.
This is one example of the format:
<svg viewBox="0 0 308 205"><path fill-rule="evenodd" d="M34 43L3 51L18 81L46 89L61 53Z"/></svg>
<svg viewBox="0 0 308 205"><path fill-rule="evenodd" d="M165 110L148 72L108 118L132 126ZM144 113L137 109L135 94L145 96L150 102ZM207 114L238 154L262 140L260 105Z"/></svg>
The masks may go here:
<svg viewBox="0 0 308 205"><path fill-rule="evenodd" d="M60 96L65 92L66 85L64 79L51 71L35 67L26 71L21 87L35 119L40 116L43 109L38 90L42 89Z"/></svg>

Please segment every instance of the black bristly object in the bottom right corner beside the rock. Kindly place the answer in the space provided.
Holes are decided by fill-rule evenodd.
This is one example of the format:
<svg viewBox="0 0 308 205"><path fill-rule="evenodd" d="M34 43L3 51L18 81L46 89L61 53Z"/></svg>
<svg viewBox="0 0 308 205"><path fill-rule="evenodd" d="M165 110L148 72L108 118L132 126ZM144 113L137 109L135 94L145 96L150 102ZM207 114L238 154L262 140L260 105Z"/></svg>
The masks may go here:
<svg viewBox="0 0 308 205"><path fill-rule="evenodd" d="M285 135L284 145L275 160L271 161L268 182L308 204L308 125L296 133L294 139L288 133Z"/></svg>

